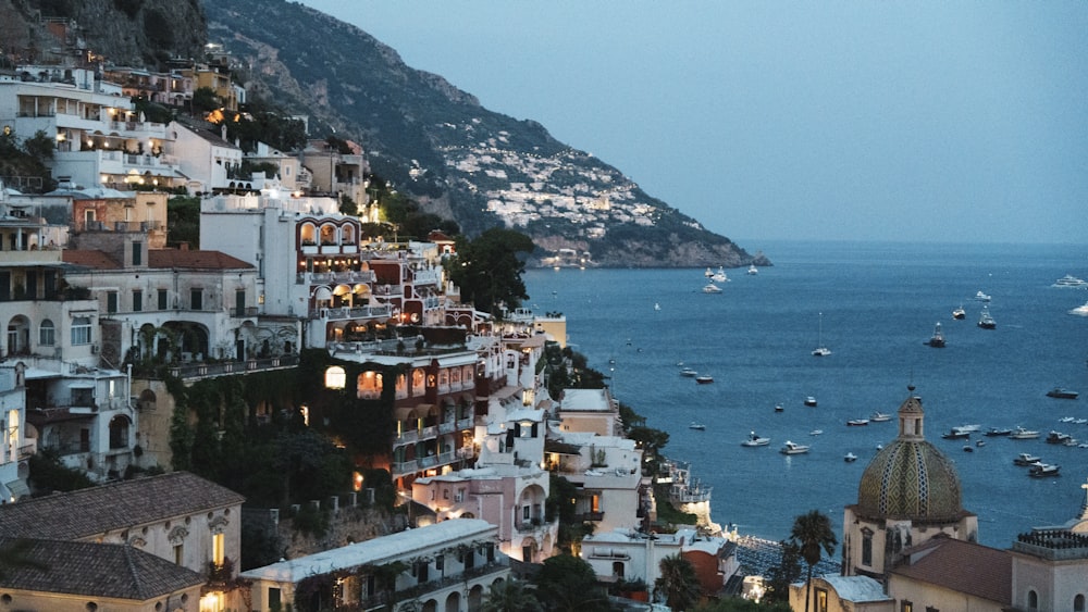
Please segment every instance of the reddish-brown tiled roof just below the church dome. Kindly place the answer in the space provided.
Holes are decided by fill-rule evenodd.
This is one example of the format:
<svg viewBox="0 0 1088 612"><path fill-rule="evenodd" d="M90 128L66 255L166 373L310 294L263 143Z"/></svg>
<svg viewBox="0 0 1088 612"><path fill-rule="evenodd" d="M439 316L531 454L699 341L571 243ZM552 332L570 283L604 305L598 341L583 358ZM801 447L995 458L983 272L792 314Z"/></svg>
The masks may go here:
<svg viewBox="0 0 1088 612"><path fill-rule="evenodd" d="M1003 605L1012 604L1013 560L1006 550L939 537L904 552L898 574Z"/></svg>

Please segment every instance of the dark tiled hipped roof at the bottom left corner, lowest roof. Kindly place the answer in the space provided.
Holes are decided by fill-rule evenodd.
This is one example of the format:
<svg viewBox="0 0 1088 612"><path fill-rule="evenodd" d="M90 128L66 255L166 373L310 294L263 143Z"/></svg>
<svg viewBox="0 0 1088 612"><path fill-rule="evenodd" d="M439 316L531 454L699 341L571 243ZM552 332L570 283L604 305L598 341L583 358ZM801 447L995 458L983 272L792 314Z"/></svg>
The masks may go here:
<svg viewBox="0 0 1088 612"><path fill-rule="evenodd" d="M205 583L189 570L131 546L22 540L40 567L5 564L0 588L147 601ZM0 538L0 548L18 545Z"/></svg>

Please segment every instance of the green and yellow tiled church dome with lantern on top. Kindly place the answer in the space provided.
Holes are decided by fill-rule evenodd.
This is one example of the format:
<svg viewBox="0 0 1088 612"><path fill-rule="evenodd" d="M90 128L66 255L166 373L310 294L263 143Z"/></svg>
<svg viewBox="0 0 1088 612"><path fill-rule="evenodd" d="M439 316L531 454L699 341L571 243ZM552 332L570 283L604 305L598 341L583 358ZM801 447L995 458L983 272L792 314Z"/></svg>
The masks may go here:
<svg viewBox="0 0 1088 612"><path fill-rule="evenodd" d="M912 394L899 408L899 437L862 474L860 514L940 522L955 521L963 513L960 476L952 462L926 441L923 415L922 400Z"/></svg>

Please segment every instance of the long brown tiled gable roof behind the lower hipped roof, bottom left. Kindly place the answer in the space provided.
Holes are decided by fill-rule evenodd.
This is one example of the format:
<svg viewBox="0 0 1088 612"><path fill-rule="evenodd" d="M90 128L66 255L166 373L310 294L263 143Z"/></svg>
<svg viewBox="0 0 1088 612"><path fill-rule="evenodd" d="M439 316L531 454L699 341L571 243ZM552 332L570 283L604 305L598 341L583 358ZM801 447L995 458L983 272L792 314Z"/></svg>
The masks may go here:
<svg viewBox="0 0 1088 612"><path fill-rule="evenodd" d="M75 540L243 501L195 474L172 472L5 503L0 505L0 537Z"/></svg>

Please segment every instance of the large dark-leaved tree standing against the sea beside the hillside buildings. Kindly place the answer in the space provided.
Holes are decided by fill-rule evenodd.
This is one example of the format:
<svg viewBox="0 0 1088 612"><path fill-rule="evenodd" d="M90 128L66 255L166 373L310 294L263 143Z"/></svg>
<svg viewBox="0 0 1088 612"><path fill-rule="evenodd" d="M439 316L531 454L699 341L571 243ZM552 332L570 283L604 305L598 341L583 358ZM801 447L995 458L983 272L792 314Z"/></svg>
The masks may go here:
<svg viewBox="0 0 1088 612"><path fill-rule="evenodd" d="M457 239L457 255L447 261L450 279L461 288L461 298L478 310L498 314L529 299L521 274L526 263L519 253L531 253L532 239L512 229L493 227L474 240Z"/></svg>

